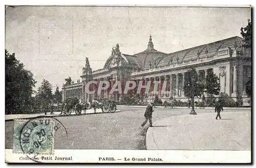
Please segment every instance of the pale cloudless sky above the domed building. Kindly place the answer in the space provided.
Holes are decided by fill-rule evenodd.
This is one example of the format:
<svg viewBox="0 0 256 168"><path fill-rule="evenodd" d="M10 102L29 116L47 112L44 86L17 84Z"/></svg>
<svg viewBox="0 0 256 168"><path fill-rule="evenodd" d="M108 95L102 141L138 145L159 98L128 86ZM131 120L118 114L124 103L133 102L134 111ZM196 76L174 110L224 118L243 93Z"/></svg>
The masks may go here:
<svg viewBox="0 0 256 168"><path fill-rule="evenodd" d="M80 78L89 58L103 68L112 47L135 54L147 48L171 53L240 35L250 8L224 7L61 7L15 6L6 9L5 48L15 53L40 86L55 90L65 78ZM81 81L81 79L80 79Z"/></svg>

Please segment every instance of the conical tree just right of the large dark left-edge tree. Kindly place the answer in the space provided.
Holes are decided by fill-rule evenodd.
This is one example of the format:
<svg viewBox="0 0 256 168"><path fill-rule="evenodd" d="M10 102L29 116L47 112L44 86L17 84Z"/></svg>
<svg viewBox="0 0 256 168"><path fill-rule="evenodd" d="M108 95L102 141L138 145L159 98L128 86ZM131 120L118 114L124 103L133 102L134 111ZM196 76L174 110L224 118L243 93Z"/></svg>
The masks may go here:
<svg viewBox="0 0 256 168"><path fill-rule="evenodd" d="M48 109L52 99L52 85L48 80L42 79L41 86L37 89L37 101L41 109Z"/></svg>

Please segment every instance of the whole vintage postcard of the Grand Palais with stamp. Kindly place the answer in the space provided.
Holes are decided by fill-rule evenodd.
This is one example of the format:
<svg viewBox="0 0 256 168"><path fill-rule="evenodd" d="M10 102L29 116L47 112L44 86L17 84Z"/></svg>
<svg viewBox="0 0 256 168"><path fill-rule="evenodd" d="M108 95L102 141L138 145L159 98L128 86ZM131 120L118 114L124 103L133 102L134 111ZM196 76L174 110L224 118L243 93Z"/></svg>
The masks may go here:
<svg viewBox="0 0 256 168"><path fill-rule="evenodd" d="M5 7L5 162L251 163L251 6Z"/></svg>

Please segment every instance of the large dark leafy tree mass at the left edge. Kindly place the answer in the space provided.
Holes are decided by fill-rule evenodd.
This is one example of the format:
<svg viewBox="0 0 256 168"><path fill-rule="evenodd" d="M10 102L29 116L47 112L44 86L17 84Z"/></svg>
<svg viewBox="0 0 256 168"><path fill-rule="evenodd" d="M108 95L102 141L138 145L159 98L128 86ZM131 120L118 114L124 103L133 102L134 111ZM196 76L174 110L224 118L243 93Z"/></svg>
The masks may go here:
<svg viewBox="0 0 256 168"><path fill-rule="evenodd" d="M24 64L5 50L5 111L6 114L24 113L31 109L32 94L36 81Z"/></svg>

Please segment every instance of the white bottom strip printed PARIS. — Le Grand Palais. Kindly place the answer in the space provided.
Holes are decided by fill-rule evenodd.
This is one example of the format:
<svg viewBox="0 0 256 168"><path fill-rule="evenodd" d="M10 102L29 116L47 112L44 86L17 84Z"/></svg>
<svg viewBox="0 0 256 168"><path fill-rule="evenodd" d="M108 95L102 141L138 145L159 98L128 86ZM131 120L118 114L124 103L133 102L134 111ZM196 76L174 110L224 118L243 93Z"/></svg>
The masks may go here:
<svg viewBox="0 0 256 168"><path fill-rule="evenodd" d="M12 149L5 151L8 162L34 162L21 160L26 158L26 155L14 154ZM52 156L53 160L41 160L41 156ZM38 161L45 163L250 163L250 156L251 151L222 150L55 150L54 155L38 155ZM55 157L72 157L72 160L54 160ZM113 159L108 161L99 160L99 158ZM133 158L145 158L145 161L133 161ZM148 161L148 158L152 160Z"/></svg>

